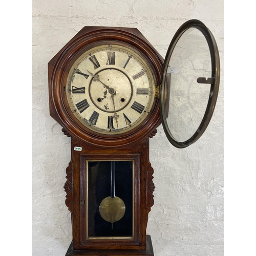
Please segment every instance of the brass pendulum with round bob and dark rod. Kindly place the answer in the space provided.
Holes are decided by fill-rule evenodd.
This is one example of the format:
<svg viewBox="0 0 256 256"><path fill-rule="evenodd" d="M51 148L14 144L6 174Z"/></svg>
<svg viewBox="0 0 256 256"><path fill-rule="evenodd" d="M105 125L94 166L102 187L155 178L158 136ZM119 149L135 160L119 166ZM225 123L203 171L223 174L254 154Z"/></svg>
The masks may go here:
<svg viewBox="0 0 256 256"><path fill-rule="evenodd" d="M99 206L100 216L112 224L119 221L124 216L125 205L121 198L115 195L115 172L116 165L115 161L111 162L111 189L110 197L106 197L102 200Z"/></svg>

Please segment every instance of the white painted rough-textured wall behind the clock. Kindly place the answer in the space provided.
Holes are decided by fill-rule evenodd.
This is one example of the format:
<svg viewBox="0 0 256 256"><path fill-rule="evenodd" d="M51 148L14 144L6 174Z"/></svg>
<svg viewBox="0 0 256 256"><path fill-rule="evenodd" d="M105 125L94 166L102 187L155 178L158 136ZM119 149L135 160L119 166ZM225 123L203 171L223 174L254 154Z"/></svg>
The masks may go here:
<svg viewBox="0 0 256 256"><path fill-rule="evenodd" d="M65 205L70 139L49 115L47 63L84 26L135 27L165 57L186 20L214 34L223 67L222 0L33 0L32 2L32 254L65 255L72 240ZM223 255L223 70L208 129L179 150L162 126L150 141L155 204L149 215L156 256Z"/></svg>

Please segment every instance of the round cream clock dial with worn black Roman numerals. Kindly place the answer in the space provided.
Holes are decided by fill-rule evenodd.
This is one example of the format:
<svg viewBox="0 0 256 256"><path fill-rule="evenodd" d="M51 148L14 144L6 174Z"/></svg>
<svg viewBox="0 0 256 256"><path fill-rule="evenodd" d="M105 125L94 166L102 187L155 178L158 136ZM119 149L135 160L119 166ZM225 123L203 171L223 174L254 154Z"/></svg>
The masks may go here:
<svg viewBox="0 0 256 256"><path fill-rule="evenodd" d="M150 67L137 52L102 45L74 62L66 95L84 126L102 134L120 134L134 129L150 113L155 85Z"/></svg>

